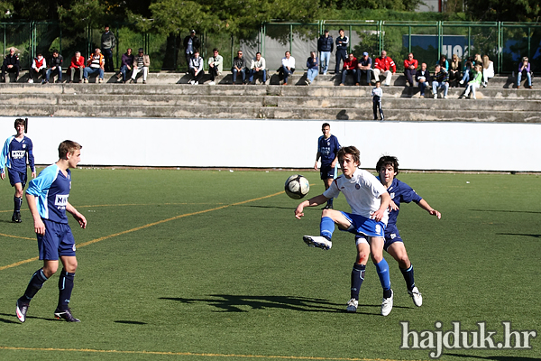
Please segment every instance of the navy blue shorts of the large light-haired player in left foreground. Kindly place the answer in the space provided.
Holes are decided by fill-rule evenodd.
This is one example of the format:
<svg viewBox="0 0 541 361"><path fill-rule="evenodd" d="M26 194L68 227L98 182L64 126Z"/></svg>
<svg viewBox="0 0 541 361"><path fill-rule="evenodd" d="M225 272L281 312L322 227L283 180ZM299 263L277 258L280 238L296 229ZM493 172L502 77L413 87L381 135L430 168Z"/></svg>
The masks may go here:
<svg viewBox="0 0 541 361"><path fill-rule="evenodd" d="M38 236L40 259L58 261L59 255L75 255L75 239L67 223L56 223L42 219L45 234Z"/></svg>

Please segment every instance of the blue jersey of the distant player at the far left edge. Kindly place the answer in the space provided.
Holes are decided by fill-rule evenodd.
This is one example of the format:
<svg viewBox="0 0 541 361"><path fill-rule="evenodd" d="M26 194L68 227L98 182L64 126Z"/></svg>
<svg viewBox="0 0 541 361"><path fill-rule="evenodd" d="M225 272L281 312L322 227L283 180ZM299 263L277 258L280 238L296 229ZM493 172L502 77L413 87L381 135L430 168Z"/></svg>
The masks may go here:
<svg viewBox="0 0 541 361"><path fill-rule="evenodd" d="M30 138L23 136L21 141L15 138L15 135L7 138L2 148L0 155L0 172L4 173L4 168L26 172L26 161L30 164L30 169L36 171L33 161L32 141Z"/></svg>

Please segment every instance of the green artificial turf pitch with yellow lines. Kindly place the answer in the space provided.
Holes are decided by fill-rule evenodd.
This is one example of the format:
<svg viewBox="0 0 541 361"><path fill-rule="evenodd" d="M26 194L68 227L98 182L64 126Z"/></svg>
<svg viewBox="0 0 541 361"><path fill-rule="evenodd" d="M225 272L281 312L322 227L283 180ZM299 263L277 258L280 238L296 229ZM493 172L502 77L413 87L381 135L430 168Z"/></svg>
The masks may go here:
<svg viewBox="0 0 541 361"><path fill-rule="evenodd" d="M71 298L81 323L53 320L58 275L14 315L41 262L30 213L11 223L13 189L0 188L0 359L96 360L427 360L428 349L401 349L410 329L443 330L452 321L477 329L501 321L541 330L538 175L400 173L442 212L403 204L399 230L424 304L414 306L387 254L394 309L381 317L381 285L369 262L357 313L344 312L355 259L353 236L335 232L333 248L309 248L320 208L294 218L283 193L292 171L81 169L69 201L87 229L70 219L78 244ZM316 171L303 172L321 193ZM344 197L335 208L349 211ZM19 264L20 263L20 264ZM536 360L530 349L450 349L442 360Z"/></svg>

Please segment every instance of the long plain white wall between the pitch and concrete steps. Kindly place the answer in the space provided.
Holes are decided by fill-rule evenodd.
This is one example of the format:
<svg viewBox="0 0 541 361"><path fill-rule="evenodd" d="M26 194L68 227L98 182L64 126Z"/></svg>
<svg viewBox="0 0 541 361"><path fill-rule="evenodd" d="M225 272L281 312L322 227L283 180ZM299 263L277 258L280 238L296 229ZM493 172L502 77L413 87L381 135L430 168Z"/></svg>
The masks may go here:
<svg viewBox="0 0 541 361"><path fill-rule="evenodd" d="M14 118L1 117L3 139ZM80 165L309 168L321 120L32 117L28 136L37 164L58 159L58 144L83 145ZM342 145L361 150L365 168L381 154L400 168L541 171L541 125L331 121Z"/></svg>

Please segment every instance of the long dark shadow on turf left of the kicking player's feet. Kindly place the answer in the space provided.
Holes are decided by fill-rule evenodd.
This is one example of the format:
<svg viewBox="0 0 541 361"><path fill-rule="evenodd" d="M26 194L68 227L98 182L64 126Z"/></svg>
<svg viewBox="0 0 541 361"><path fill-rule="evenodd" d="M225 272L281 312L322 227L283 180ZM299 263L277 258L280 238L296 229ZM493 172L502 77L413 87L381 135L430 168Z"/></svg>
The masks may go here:
<svg viewBox="0 0 541 361"><path fill-rule="evenodd" d="M248 312L246 307L252 310L284 309L304 312L345 312L345 303L332 303L322 299L297 296L248 296L233 294L210 294L208 298L185 299L181 297L160 297L160 300L179 301L183 303L204 302L214 306L223 312ZM359 305L357 313L379 315L380 305ZM377 308L374 312L364 312L363 308Z"/></svg>

